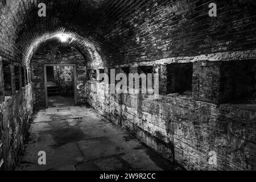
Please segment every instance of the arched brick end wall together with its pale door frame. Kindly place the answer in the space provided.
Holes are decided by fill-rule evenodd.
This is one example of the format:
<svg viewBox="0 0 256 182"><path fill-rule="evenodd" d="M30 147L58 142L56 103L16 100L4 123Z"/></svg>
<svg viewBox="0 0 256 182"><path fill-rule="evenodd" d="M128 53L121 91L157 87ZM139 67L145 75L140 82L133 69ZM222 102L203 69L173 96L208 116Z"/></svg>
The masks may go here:
<svg viewBox="0 0 256 182"><path fill-rule="evenodd" d="M73 67L73 102L75 105L85 102L86 57L69 43L48 40L38 47L30 66L35 107L48 107L46 67Z"/></svg>

